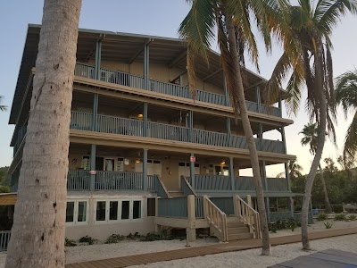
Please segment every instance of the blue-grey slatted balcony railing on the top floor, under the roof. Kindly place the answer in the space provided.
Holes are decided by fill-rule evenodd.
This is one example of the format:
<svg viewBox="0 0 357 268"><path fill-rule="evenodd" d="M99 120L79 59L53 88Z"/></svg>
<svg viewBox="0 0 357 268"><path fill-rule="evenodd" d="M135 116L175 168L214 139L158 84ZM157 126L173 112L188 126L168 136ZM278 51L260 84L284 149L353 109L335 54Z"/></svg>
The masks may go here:
<svg viewBox="0 0 357 268"><path fill-rule="evenodd" d="M95 79L94 73L94 66L90 66L83 63L76 63L76 69L74 71L75 75L88 79ZM131 88L145 89L170 96L179 96L192 99L191 92L187 87L158 80L149 80L148 88L145 88L145 80L143 77L122 71L112 71L101 68L99 80ZM207 92L199 89L196 90L195 94L197 101L202 101L213 105L228 105L227 97L224 95ZM248 111L251 112L265 113L281 117L280 109L274 106L270 107L266 105L261 105L261 109L259 109L258 104L250 101L246 102L246 106Z"/></svg>

